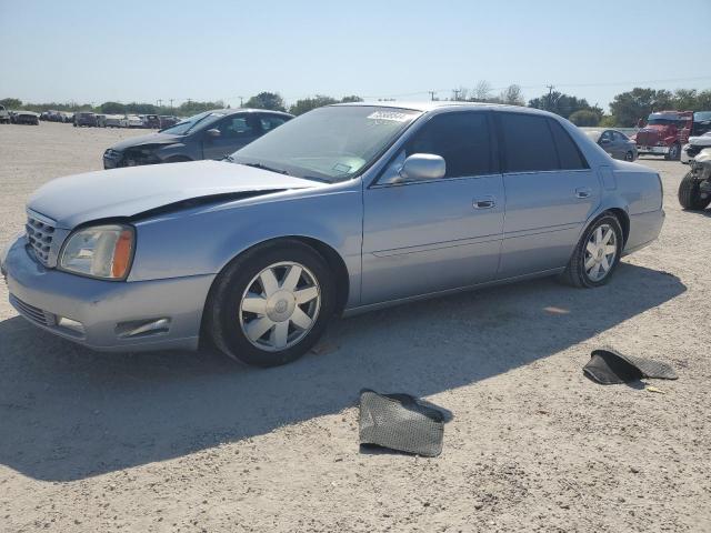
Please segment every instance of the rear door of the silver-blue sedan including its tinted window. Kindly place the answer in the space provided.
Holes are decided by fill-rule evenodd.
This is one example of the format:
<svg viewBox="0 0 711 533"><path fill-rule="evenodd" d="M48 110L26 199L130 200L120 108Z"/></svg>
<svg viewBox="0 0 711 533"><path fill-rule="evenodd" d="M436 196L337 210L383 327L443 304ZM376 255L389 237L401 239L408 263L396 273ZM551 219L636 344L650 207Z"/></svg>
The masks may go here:
<svg viewBox="0 0 711 533"><path fill-rule="evenodd" d="M564 266L600 202L598 177L553 119L497 112L507 195L499 279Z"/></svg>

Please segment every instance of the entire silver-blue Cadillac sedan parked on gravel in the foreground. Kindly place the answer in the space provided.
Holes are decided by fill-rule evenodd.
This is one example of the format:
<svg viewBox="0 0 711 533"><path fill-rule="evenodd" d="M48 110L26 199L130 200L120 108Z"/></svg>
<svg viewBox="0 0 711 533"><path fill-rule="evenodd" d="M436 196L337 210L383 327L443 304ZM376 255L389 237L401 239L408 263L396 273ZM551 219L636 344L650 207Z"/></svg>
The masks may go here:
<svg viewBox="0 0 711 533"><path fill-rule="evenodd" d="M51 181L1 257L10 302L96 350L293 361L329 319L553 275L595 288L658 235L659 175L570 122L491 104L344 104L223 161Z"/></svg>

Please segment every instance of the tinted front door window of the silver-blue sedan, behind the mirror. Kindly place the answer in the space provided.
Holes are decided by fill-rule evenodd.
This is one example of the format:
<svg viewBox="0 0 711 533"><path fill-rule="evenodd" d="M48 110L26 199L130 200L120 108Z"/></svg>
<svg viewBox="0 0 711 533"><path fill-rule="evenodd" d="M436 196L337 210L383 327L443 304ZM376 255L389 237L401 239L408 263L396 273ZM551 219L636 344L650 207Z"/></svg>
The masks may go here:
<svg viewBox="0 0 711 533"><path fill-rule="evenodd" d="M447 113L433 117L405 144L405 154L433 153L444 158L444 178L493 172L491 135L484 112Z"/></svg>

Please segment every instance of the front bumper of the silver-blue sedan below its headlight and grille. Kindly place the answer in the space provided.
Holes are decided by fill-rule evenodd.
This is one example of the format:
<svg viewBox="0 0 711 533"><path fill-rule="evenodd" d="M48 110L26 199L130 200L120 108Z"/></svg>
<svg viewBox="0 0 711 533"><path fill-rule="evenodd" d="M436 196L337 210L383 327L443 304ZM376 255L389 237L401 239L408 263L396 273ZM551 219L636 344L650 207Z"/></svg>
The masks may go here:
<svg viewBox="0 0 711 533"><path fill-rule="evenodd" d="M2 261L10 303L34 325L93 350L196 350L202 309L214 275L112 282L47 269L19 238ZM83 332L60 325L60 318ZM168 319L168 320L163 320ZM160 329L141 324L159 320ZM127 332L136 334L127 336Z"/></svg>

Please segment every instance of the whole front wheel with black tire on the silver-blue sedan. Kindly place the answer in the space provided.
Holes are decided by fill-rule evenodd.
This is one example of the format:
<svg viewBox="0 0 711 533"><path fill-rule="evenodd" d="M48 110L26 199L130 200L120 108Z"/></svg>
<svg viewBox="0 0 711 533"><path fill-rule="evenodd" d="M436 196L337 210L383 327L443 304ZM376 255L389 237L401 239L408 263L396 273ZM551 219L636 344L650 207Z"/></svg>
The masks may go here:
<svg viewBox="0 0 711 533"><path fill-rule="evenodd" d="M293 283L290 272L298 276ZM230 359L278 366L307 353L334 310L336 286L326 260L302 242L273 241L239 255L218 275L206 304L203 335Z"/></svg>

